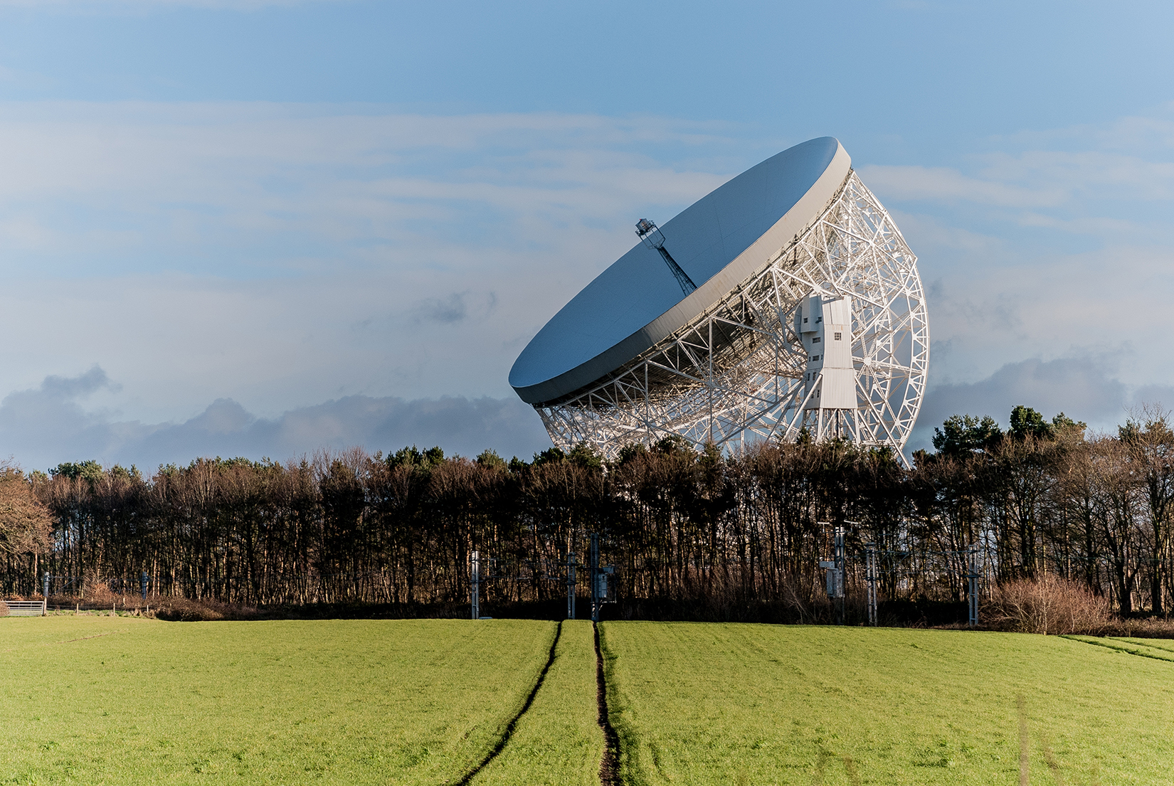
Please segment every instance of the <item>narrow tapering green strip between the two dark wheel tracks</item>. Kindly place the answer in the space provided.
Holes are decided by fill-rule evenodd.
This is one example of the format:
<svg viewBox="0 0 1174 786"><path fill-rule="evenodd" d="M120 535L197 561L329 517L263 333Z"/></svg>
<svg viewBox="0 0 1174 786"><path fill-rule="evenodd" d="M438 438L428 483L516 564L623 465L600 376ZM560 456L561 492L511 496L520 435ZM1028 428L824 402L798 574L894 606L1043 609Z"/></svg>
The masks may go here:
<svg viewBox="0 0 1174 786"><path fill-rule="evenodd" d="M534 703L519 719L508 745L472 784L598 786L602 755L592 626L568 619Z"/></svg>

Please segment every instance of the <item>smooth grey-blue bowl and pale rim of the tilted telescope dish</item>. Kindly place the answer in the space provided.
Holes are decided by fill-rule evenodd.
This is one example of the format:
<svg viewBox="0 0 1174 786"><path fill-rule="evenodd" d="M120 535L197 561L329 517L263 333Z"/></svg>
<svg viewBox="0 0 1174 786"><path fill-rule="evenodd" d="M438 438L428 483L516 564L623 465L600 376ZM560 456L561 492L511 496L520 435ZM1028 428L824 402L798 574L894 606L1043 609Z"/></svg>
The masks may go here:
<svg viewBox="0 0 1174 786"><path fill-rule="evenodd" d="M660 252L637 243L538 332L514 361L510 385L527 404L553 401L655 346L819 215L850 170L844 148L824 136L709 192L660 228L696 291L686 296Z"/></svg>

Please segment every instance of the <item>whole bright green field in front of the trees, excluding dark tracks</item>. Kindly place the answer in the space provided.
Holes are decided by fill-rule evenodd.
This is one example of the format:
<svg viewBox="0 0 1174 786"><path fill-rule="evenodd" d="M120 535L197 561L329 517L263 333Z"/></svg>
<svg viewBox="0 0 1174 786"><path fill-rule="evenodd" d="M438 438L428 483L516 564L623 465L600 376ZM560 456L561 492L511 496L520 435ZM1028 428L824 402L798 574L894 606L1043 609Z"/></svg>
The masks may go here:
<svg viewBox="0 0 1174 786"><path fill-rule="evenodd" d="M454 784L558 626L0 619L0 784ZM1174 642L609 622L621 774L652 784L1174 784ZM587 622L471 786L599 782Z"/></svg>

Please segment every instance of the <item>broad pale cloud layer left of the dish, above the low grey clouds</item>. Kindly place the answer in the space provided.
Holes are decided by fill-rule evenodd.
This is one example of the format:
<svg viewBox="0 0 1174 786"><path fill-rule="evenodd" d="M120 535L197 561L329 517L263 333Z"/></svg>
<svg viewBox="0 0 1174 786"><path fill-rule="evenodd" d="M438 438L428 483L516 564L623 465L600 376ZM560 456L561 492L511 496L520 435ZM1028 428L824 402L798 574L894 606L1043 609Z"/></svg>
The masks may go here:
<svg viewBox="0 0 1174 786"><path fill-rule="evenodd" d="M0 103L0 389L183 421L349 395L512 395L567 298L728 175L721 126L261 103ZM654 144L689 165L653 158ZM699 165L696 162L701 162ZM659 208L657 208L659 206Z"/></svg>

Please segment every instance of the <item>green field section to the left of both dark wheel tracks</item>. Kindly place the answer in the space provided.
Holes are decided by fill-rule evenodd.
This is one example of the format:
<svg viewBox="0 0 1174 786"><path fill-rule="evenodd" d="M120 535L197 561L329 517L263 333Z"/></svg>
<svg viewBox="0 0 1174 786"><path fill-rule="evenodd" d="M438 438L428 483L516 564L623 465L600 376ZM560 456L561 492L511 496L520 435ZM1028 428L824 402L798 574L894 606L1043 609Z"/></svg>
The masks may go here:
<svg viewBox="0 0 1174 786"><path fill-rule="evenodd" d="M439 784L547 659L525 621L0 619L0 784Z"/></svg>

